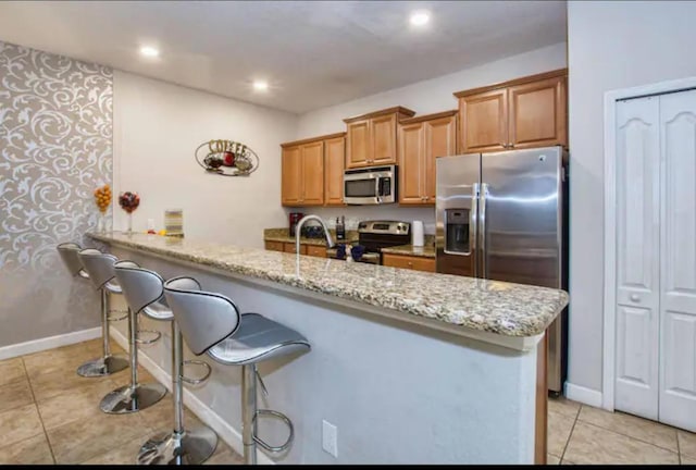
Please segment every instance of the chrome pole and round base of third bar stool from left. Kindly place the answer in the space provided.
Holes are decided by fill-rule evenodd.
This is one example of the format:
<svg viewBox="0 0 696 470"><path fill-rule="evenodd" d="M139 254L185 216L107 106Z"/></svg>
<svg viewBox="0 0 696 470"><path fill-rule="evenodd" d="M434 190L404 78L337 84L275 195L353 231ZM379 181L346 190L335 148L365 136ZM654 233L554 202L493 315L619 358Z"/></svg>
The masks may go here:
<svg viewBox="0 0 696 470"><path fill-rule="evenodd" d="M174 430L150 437L140 447L136 459L139 465L199 465L217 447L217 435L210 428L184 428L184 346L175 321L172 321L172 396Z"/></svg>

